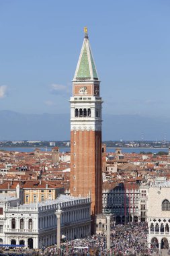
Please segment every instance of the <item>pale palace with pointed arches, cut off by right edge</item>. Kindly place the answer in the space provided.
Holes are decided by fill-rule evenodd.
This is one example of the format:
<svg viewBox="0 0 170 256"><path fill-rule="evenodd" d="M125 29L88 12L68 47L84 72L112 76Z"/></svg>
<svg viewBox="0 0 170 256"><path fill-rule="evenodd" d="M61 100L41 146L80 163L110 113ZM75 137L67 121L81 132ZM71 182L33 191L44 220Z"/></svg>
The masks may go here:
<svg viewBox="0 0 170 256"><path fill-rule="evenodd" d="M170 245L170 183L148 189L148 244L167 249Z"/></svg>

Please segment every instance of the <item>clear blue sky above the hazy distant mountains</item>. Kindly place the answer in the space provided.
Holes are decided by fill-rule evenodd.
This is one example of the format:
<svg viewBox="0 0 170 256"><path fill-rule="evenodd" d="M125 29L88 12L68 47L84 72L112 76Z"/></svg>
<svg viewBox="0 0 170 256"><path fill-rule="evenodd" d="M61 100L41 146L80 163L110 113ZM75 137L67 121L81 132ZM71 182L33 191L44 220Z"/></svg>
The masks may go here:
<svg viewBox="0 0 170 256"><path fill-rule="evenodd" d="M169 117L169 0L1 0L0 110L69 113L89 40L103 113Z"/></svg>

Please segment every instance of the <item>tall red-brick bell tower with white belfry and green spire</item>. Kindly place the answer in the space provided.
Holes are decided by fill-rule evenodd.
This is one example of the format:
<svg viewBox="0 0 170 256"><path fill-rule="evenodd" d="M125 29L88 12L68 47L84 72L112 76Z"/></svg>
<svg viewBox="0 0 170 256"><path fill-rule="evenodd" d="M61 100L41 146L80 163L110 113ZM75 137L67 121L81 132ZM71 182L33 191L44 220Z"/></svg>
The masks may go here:
<svg viewBox="0 0 170 256"><path fill-rule="evenodd" d="M91 216L102 211L102 145L99 78L87 28L71 96L71 195L91 195Z"/></svg>

